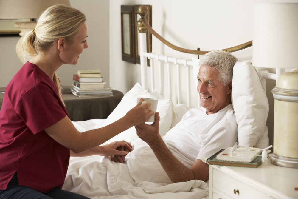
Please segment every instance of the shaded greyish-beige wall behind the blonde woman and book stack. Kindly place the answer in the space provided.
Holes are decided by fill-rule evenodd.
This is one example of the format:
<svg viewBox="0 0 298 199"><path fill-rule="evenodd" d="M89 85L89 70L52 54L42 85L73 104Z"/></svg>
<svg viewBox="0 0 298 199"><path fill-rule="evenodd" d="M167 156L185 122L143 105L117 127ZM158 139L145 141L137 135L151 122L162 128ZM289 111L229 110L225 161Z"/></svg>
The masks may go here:
<svg viewBox="0 0 298 199"><path fill-rule="evenodd" d="M57 70L62 86L71 86L77 70L100 69L109 85L109 0L70 0L72 7L87 17L89 47L80 55L77 65L65 64ZM6 87L22 67L15 52L20 37L0 37L0 87Z"/></svg>

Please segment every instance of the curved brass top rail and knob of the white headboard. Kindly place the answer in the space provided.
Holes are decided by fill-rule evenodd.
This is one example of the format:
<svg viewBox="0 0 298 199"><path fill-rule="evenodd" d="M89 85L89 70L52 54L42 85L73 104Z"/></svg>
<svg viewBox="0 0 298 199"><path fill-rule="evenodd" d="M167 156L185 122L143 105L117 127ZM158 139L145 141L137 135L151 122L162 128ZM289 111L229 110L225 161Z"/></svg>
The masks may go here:
<svg viewBox="0 0 298 199"><path fill-rule="evenodd" d="M164 43L168 47L170 47L174 50L177 50L179 52L182 52L182 53L189 53L189 54L194 54L194 55L205 55L206 53L210 52L210 51L201 51L200 48L197 48L197 50L190 50L190 49L185 49L185 48L175 46L174 44L170 43L169 41L164 39L162 36L160 36L158 33L156 33L155 30L153 30L152 27L148 24L148 21L145 19L145 16L148 13L147 6L145 6L145 5L139 6L138 13L141 16L141 18L137 22L136 26L139 27L140 33L146 33L146 31L148 30L156 38L158 38L162 43ZM252 46L252 41L249 41L244 44L240 44L238 46L234 46L234 47L230 47L230 48L226 48L226 49L222 49L222 50L227 51L227 52L235 52L235 51L242 50L242 49L245 49L245 48L248 48L251 46Z"/></svg>

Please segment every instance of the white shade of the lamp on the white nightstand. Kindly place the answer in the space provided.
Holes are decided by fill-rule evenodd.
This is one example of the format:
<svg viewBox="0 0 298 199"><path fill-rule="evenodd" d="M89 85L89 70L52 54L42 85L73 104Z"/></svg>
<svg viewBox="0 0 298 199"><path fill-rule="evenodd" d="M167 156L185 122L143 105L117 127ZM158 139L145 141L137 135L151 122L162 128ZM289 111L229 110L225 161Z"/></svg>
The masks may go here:
<svg viewBox="0 0 298 199"><path fill-rule="evenodd" d="M298 68L298 3L254 4L252 63Z"/></svg>

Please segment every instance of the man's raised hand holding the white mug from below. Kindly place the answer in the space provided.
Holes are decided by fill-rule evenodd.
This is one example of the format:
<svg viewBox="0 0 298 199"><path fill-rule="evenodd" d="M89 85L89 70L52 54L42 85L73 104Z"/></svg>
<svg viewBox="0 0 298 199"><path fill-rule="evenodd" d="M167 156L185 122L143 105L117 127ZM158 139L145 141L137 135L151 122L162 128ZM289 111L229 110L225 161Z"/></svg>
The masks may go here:
<svg viewBox="0 0 298 199"><path fill-rule="evenodd" d="M146 143L155 144L161 137L159 135L159 112L155 113L155 121L149 124L139 124L135 126L136 134Z"/></svg>

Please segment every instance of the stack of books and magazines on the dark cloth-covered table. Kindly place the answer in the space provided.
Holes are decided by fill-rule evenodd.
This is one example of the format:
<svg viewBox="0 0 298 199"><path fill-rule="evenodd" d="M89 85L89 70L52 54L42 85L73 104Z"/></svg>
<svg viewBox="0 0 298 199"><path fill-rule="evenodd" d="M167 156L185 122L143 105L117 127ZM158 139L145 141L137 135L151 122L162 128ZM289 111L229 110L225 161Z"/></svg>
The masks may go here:
<svg viewBox="0 0 298 199"><path fill-rule="evenodd" d="M78 70L72 81L74 84L70 90L76 96L113 96L111 87L105 87L106 82L99 69Z"/></svg>

